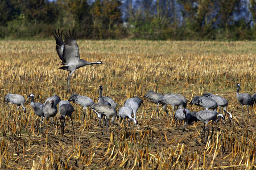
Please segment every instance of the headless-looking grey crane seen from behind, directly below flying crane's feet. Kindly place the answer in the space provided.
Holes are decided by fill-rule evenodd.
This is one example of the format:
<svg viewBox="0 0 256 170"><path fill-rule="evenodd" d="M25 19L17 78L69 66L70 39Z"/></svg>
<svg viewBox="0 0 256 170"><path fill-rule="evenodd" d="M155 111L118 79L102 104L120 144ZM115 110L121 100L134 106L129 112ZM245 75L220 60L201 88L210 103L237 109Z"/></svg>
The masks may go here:
<svg viewBox="0 0 256 170"><path fill-rule="evenodd" d="M71 118L72 122L72 128L73 128L73 133L75 135L75 129L73 125L73 118L72 118L72 113L75 111L74 107L69 104L69 103L61 103L59 105L59 113L57 113L57 118L61 120L61 134L64 134L64 129L65 129L65 118L66 116L69 116Z"/></svg>

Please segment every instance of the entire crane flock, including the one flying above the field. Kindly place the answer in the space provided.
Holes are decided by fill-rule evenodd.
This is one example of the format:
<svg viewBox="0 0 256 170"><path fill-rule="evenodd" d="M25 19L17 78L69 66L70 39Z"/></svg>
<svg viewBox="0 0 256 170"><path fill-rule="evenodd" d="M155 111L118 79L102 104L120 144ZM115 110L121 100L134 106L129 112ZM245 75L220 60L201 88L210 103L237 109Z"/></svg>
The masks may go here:
<svg viewBox="0 0 256 170"><path fill-rule="evenodd" d="M63 33L63 31L56 31L52 33L56 40L56 51L59 58L62 61L62 67L60 69L68 70L69 75L67 78L68 88L67 91L70 91L69 78L75 73L76 69L86 65L93 64L102 64L103 62L87 62L83 59L80 59L79 55L79 46L76 42L76 34L75 31L70 31L68 33ZM64 41L63 36L64 35ZM240 84L237 83L237 100L242 105L242 121L243 121L243 105L246 105L247 112L249 114L249 107L253 106L256 102L256 94L251 96L250 94L240 94ZM45 103L36 103L35 95L29 94L27 101L30 101L30 106L34 110L34 113L39 116L40 119L40 131L42 131L42 123L44 123L44 128L46 126L46 121L49 117L51 117L51 125L53 123L53 118L56 116L57 119L61 121L61 134L64 134L65 130L65 117L69 116L72 122L73 134L75 135L75 128L73 126L73 118L72 113L75 112L73 105L70 103L76 103L82 107L82 113L84 113L84 118L88 118L88 113L86 113L86 109L90 108L94 113L97 114L99 123L98 128L99 131L102 128L102 134L104 135L104 126L107 126L107 134L109 134L109 119L111 118L111 123L113 125L117 125L120 130L121 124L123 123L124 128L125 120L128 119L128 125L130 127L130 121L134 122L135 125L138 126L139 122L137 120L137 112L141 105L144 105L143 100L137 96L131 97L127 99L123 103L123 107L117 109L117 103L108 96L102 96L103 87L98 87L99 96L97 101L93 101L88 96L82 96L77 93L72 94L68 100L61 100L59 96L53 95L46 99ZM18 94L7 94L5 95L5 103L9 108L8 103L12 103L17 105L17 109L21 106L23 108L24 113L26 113L26 107L24 103L26 103L25 98L22 95ZM155 113L159 116L159 105L162 105L162 110L166 113L163 117L166 118L174 118L176 121L184 121L183 133L185 131L185 126L188 124L192 124L193 122L201 121L204 123L203 131L207 132L207 125L209 121L220 121L222 120L225 123L225 116L220 112L220 108L223 108L223 113L228 116L231 123L233 123L233 115L228 112L228 100L225 97L220 95L213 95L210 93L205 93L201 96L194 96L190 101L190 105L197 105L203 110L199 112L192 112L187 109L188 100L185 96L176 93L166 93L159 94L153 90L149 90L144 95L144 100L150 100L152 103L155 103L156 109ZM57 105L59 104L59 108ZM172 107L172 115L170 116L167 110L168 105ZM218 112L217 112L218 108ZM9 108L10 109L10 108ZM212 109L212 110L209 110ZM115 121L119 118L119 122ZM101 122L102 119L102 122ZM123 120L123 121L122 121ZM39 126L38 124L38 126ZM39 128L39 127L38 127Z"/></svg>

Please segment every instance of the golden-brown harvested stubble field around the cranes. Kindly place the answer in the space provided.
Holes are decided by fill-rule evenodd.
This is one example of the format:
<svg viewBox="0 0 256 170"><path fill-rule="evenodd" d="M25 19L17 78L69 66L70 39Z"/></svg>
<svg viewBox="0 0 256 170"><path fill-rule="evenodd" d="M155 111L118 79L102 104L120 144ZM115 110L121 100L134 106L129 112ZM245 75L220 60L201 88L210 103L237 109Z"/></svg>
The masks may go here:
<svg viewBox="0 0 256 170"><path fill-rule="evenodd" d="M131 124L118 131L111 126L109 137L98 131L93 112L83 120L82 108L73 104L75 133L67 118L64 137L56 125L44 135L36 129L36 117L26 103L22 109L1 102L0 163L7 169L255 169L255 108L246 108L241 121L241 105L236 99L236 83L241 92L253 94L255 83L255 45L253 41L78 41L80 56L87 61L108 65L86 66L71 78L67 94L68 72L58 69L60 59L55 41L0 41L1 97L8 92L44 103L57 94L67 100L73 92L98 98L112 97L118 108L129 97L138 96L144 105L138 110L139 128ZM172 118L156 117L156 105L144 99L148 90L176 92L188 100L211 92L226 97L233 124L209 124L209 140L201 139L202 122L175 125ZM160 107L159 107L160 109ZM172 112L172 108L168 107ZM191 111L203 108L191 107ZM221 109L222 112L222 109ZM60 124L59 124L60 126ZM48 126L50 127L50 126Z"/></svg>

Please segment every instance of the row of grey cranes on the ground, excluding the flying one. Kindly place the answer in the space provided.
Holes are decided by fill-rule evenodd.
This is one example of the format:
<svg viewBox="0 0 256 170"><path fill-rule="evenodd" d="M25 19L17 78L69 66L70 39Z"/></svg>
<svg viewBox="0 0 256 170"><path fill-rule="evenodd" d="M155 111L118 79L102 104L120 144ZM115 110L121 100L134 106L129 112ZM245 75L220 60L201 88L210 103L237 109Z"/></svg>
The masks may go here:
<svg viewBox="0 0 256 170"><path fill-rule="evenodd" d="M238 87L237 99L241 103L242 107L243 105L247 106L248 112L249 112L249 106L255 103L256 95L254 94L252 97L249 94L239 94L241 86L238 83L236 84L236 86ZM119 117L119 119L121 120L128 118L129 126L130 126L130 121L133 121L134 124L138 126L137 111L139 107L141 107L141 105L143 104L142 99L140 99L139 97L131 97L130 99L127 99L123 103L123 107L119 108L117 111L117 103L111 97L102 96L103 87L100 86L98 90L100 92L99 92L97 103L94 103L94 101L90 97L81 96L76 93L72 94L68 100L61 100L60 97L57 95L48 97L48 99L46 99L44 104L35 103L34 94L28 95L27 100L30 100L30 105L34 109L34 113L41 118L40 124L42 124L42 122L45 123L45 121L49 117L51 117L53 120L53 117L56 116L57 119L61 120L61 134L64 134L65 117L69 116L72 122L73 134L75 135L75 129L73 126L73 119L72 119L72 113L75 112L75 109L73 108L73 105L71 105L70 101L73 101L73 103L81 105L83 109L82 112L85 112L84 113L85 118L86 118L86 108L88 107L90 107L90 109L94 113L97 113L97 116L99 118L99 124L98 124L99 130L101 127L101 119L105 118L103 121L103 130L102 130L103 135L104 135L104 125L107 126L107 131L109 134L110 117L112 117L111 119L112 124L117 125L119 129L120 129L119 123L115 122L115 119L117 117ZM219 95L213 95L208 93L208 94L203 94L201 96L193 97L193 99L190 102L191 105L195 104L205 108L205 110L199 111L199 112L189 111L189 109L187 109L188 100L186 99L186 97L180 94L171 94L171 93L159 94L157 92L150 90L146 92L144 97L149 99L153 103L157 104L156 114L159 113L158 111L159 104L162 104L163 111L166 112L166 116L168 117L169 114L167 111L167 105L171 105L172 111L173 111L172 116L176 119L176 121L178 120L184 121L183 133L185 130L185 126L187 124L191 124L194 121L195 122L202 121L204 123L204 126L205 126L205 128L203 129L204 132L207 131L207 124L210 120L216 121L216 122L220 120L224 121L225 116L217 112L217 108L221 108L221 107L223 108L224 113L228 115L230 121L232 122L233 116L231 113L227 111L228 100L226 100L224 97ZM17 109L19 109L19 106L21 105L23 108L23 111L26 112L26 108L24 107L24 103L26 102L26 100L22 95L7 94L5 96L5 102L13 103L17 105L18 106ZM57 104L59 104L59 109L57 108ZM212 109L212 110L209 110L209 109ZM159 114L158 114L158 118L159 118ZM242 118L243 118L243 109L242 109ZM40 128L40 131L41 131L41 128Z"/></svg>

